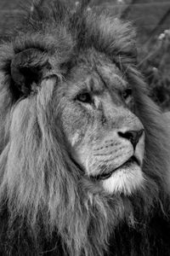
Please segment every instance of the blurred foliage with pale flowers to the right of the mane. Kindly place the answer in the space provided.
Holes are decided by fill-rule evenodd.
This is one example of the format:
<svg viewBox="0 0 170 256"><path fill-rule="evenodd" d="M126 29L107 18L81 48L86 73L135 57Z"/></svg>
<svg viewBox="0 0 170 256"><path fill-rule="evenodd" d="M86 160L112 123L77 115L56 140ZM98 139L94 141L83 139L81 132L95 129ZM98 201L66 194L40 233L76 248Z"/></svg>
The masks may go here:
<svg viewBox="0 0 170 256"><path fill-rule="evenodd" d="M139 67L150 96L163 110L170 110L170 29L139 49Z"/></svg>

